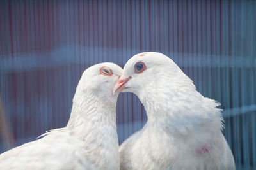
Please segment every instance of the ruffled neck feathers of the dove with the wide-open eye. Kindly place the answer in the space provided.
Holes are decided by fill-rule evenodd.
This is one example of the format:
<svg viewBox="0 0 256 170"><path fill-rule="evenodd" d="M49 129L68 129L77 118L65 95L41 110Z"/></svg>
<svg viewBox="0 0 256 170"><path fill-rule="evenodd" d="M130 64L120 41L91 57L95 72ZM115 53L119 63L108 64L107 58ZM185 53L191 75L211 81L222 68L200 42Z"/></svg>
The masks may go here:
<svg viewBox="0 0 256 170"><path fill-rule="evenodd" d="M188 76L180 72L176 77L159 77L138 94L147 112L148 125L158 124L169 132L182 133L203 124L209 124L212 131L222 128L222 113L216 108L219 104L197 92Z"/></svg>

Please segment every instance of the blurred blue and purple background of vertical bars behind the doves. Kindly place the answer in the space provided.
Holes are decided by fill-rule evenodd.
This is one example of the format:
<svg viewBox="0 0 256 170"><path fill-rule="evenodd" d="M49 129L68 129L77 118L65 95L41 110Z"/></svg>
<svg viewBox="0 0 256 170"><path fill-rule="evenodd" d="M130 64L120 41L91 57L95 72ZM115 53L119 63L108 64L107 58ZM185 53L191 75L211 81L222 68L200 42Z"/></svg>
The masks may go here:
<svg viewBox="0 0 256 170"><path fill-rule="evenodd" d="M256 1L0 1L0 153L64 127L84 69L168 55L224 109L237 169L256 169ZM118 138L143 127L120 94Z"/></svg>

